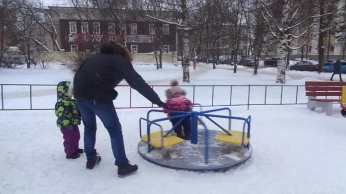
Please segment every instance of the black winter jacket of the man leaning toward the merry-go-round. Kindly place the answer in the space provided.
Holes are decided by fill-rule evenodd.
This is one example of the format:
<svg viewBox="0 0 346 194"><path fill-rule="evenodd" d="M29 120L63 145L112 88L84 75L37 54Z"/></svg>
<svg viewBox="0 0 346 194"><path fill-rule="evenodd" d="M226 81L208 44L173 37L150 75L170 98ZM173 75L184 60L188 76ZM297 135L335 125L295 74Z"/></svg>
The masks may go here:
<svg viewBox="0 0 346 194"><path fill-rule="evenodd" d="M74 95L76 98L112 103L118 94L114 87L123 79L152 103L160 103L159 96L120 51L89 56L75 75Z"/></svg>

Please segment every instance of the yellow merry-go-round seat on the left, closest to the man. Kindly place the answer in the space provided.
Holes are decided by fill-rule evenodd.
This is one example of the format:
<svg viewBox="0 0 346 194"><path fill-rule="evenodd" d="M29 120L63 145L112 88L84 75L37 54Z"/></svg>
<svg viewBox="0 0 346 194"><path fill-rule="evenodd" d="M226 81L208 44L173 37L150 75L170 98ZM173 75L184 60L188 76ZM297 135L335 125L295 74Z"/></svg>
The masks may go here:
<svg viewBox="0 0 346 194"><path fill-rule="evenodd" d="M164 131L163 135L165 135L166 133L167 131ZM142 141L148 143L148 135L143 135L141 139ZM184 139L181 139L175 135L169 134L167 135L167 137L164 137L163 139L164 142L162 146L161 139L162 139L161 131L150 133L150 145L155 148L167 148L167 147L171 147L173 145L177 145L184 142Z"/></svg>

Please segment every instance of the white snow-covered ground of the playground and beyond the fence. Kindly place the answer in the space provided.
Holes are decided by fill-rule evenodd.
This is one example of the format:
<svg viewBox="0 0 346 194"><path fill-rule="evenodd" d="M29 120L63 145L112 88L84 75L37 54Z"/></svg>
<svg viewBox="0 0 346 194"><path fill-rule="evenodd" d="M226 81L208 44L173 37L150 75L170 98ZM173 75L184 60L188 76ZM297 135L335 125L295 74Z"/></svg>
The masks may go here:
<svg viewBox="0 0 346 194"><path fill-rule="evenodd" d="M166 64L159 70L154 65L134 66L151 85L167 85L173 78L181 82L181 66ZM190 69L190 83L181 85L279 85L275 83L275 68L261 68L258 75L253 75L252 68L238 67L233 73L232 66L212 69L211 65L198 64L196 70ZM288 71L286 85L327 81L330 76ZM57 84L71 79L72 73L63 65L51 65L45 70L0 69L0 83ZM54 103L54 86L37 90L41 91L42 103ZM6 88L4 100L20 101L23 91L25 88L19 86ZM164 99L163 93L160 96ZM217 98L223 100L222 95ZM117 100L121 99L120 93ZM346 193L346 119L340 115L339 105L334 105L330 117L321 110L310 111L306 105L230 108L235 116L252 116L254 151L244 165L225 173L176 171L145 161L137 153L138 119L145 117L149 109L118 109L127 156L139 165L136 174L124 179L116 175L109 136L99 120L96 149L102 161L95 169L86 170L85 154L76 160L65 158L53 111L0 111L0 194ZM203 110L208 109L213 108ZM83 136L83 125L80 129Z"/></svg>

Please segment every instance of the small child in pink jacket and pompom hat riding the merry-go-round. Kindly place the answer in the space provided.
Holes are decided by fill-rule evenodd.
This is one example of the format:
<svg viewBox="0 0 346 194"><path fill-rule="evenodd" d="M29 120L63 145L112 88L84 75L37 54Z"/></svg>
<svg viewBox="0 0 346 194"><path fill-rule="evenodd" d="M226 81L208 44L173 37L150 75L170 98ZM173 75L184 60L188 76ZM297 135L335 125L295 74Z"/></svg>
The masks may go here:
<svg viewBox="0 0 346 194"><path fill-rule="evenodd" d="M169 110L164 109L164 112L168 116L174 116L169 113L169 111L180 111L180 112L190 112L192 110L193 104L192 102L185 98L186 92L180 88L178 82L176 80L171 81L171 88L166 90L166 104L169 107ZM174 126L176 123L180 121L181 118L171 119L172 125ZM182 128L184 134L182 133ZM182 139L189 140L191 139L191 121L190 118L185 118L180 125L176 126L174 129L176 136Z"/></svg>

